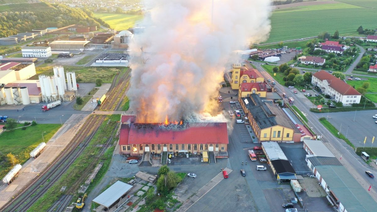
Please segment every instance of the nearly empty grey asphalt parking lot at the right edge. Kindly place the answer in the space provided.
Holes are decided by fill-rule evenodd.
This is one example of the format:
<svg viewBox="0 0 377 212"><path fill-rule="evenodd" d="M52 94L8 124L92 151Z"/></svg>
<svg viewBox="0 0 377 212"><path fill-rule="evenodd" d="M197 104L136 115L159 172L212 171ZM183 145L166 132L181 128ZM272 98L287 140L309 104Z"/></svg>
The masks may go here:
<svg viewBox="0 0 377 212"><path fill-rule="evenodd" d="M365 136L365 146L371 147L373 136L377 137L377 124L374 123L377 119L372 117L375 114L377 114L377 110L329 113L328 121L343 135L347 135L348 140L356 147L364 146ZM327 117L326 113L321 115Z"/></svg>

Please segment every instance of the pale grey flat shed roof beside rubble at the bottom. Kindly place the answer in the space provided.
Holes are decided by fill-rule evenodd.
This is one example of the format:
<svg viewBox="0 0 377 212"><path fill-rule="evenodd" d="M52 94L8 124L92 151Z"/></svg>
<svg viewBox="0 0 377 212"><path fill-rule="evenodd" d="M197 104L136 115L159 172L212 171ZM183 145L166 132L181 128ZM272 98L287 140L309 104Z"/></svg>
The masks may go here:
<svg viewBox="0 0 377 212"><path fill-rule="evenodd" d="M132 186L130 184L118 180L94 198L93 202L109 208L131 189Z"/></svg>

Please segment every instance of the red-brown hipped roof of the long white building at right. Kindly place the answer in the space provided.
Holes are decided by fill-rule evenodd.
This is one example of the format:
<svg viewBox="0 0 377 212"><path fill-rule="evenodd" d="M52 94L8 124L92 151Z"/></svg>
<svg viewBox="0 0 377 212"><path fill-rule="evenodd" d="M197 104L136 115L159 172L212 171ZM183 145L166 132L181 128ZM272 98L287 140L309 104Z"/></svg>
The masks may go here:
<svg viewBox="0 0 377 212"><path fill-rule="evenodd" d="M327 80L329 87L333 88L342 95L361 95L358 91L356 91L356 89L352 88L352 86L326 71L321 70L316 72L313 74L313 77L316 77L321 81Z"/></svg>

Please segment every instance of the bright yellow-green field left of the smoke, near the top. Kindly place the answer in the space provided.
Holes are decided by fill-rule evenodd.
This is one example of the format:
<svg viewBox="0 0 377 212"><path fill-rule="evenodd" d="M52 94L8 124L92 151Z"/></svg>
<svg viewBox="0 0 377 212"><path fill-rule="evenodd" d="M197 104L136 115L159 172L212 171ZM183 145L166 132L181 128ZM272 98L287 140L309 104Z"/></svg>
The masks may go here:
<svg viewBox="0 0 377 212"><path fill-rule="evenodd" d="M128 15L117 13L93 13L94 17L101 18L104 22L108 23L115 30L126 30L133 27L135 23L139 23L142 15Z"/></svg>

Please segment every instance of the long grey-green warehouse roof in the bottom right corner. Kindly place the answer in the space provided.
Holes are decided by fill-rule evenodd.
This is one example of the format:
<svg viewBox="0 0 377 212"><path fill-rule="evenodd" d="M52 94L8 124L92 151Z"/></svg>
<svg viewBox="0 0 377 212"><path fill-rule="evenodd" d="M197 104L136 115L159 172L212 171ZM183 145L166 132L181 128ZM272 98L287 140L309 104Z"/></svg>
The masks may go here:
<svg viewBox="0 0 377 212"><path fill-rule="evenodd" d="M316 169L347 211L376 210L377 203L344 166L316 166Z"/></svg>

